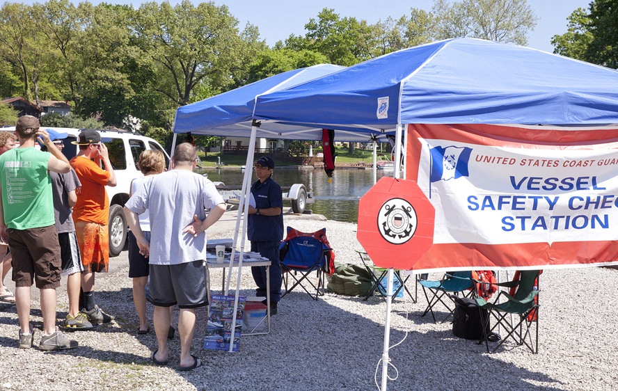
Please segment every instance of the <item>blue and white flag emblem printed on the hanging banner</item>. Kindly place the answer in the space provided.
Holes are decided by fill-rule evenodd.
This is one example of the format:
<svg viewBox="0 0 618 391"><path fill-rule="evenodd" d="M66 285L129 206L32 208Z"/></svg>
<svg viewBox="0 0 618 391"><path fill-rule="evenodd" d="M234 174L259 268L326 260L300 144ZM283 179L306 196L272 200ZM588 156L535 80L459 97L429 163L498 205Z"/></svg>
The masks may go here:
<svg viewBox="0 0 618 391"><path fill-rule="evenodd" d="M468 176L468 159L471 148L468 147L433 147L431 153L431 176L429 180L457 179Z"/></svg>

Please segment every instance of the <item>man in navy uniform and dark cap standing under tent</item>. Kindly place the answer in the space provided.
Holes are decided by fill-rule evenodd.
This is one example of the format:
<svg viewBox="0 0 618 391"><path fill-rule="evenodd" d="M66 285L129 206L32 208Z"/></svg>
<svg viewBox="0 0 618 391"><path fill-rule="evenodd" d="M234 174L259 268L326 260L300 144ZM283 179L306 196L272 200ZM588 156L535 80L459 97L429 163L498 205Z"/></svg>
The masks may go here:
<svg viewBox="0 0 618 391"><path fill-rule="evenodd" d="M272 179L275 161L271 157L260 157L254 166L258 180L251 185L255 207L249 205L248 208L247 237L251 241L251 251L271 261L271 314L274 315L283 282L279 263L279 245L283 239L283 194L281 187ZM266 296L266 267L253 266L251 273L255 285L258 285L256 295Z"/></svg>

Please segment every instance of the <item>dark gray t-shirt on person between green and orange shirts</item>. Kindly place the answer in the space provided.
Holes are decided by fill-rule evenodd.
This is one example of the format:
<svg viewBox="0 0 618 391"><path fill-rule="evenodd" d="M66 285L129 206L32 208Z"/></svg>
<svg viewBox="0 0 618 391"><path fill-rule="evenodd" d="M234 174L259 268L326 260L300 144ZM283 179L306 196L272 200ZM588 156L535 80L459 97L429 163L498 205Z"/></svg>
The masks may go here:
<svg viewBox="0 0 618 391"><path fill-rule="evenodd" d="M49 171L49 176L52 178L56 230L58 234L73 232L75 225L73 224L72 208L69 206L69 193L81 187L81 182L79 182L73 168L65 174Z"/></svg>

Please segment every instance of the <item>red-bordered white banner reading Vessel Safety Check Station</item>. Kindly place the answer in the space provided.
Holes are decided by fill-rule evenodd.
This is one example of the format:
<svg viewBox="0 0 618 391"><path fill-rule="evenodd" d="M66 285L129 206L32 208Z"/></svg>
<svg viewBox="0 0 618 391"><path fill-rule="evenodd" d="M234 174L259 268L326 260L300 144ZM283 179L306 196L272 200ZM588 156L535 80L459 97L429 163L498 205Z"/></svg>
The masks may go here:
<svg viewBox="0 0 618 391"><path fill-rule="evenodd" d="M414 270L618 264L618 129L408 125L436 209Z"/></svg>

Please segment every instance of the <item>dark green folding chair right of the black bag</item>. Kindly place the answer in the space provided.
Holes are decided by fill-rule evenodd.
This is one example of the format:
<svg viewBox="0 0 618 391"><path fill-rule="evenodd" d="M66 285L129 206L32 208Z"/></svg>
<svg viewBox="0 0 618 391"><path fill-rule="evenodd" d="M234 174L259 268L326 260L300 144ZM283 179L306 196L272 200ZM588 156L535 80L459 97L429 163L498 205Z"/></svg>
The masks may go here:
<svg viewBox="0 0 618 391"><path fill-rule="evenodd" d="M500 287L509 287L509 293L500 291L496 301L487 303L484 298L477 297L475 301L479 308L489 310L489 314L484 319L485 324L489 324L489 319L496 319L496 324L492 328L484 327L483 330L489 332L484 333L485 346L489 353L489 335L498 327L503 327L507 331L507 335L501 338L500 343L493 351L496 351L502 344L512 338L516 344L528 346L532 353L539 352L539 270L525 270L515 273L512 281L498 283ZM506 298L507 301L500 303L501 298ZM512 324L511 315L519 315L519 320ZM534 341L530 328L534 324ZM482 343L482 340L479 341Z"/></svg>

